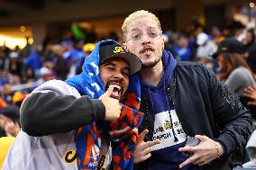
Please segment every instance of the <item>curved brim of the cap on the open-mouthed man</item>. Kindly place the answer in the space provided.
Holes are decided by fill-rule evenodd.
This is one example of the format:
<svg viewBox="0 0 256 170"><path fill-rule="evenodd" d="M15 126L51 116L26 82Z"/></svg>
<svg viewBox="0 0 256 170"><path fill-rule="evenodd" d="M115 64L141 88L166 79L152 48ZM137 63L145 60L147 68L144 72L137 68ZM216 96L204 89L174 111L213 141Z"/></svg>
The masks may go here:
<svg viewBox="0 0 256 170"><path fill-rule="evenodd" d="M141 59L135 56L131 52L119 52L108 58L105 58L103 62L105 62L109 58L123 58L125 61L127 61L130 67L130 75L133 75L134 73L138 72L142 68Z"/></svg>

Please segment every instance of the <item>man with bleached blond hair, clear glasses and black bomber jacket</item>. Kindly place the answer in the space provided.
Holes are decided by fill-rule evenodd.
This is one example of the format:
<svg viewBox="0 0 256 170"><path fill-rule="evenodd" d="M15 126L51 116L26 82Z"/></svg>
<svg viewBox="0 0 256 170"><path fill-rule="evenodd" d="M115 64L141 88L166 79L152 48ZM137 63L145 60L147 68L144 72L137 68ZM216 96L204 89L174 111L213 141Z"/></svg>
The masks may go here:
<svg viewBox="0 0 256 170"><path fill-rule="evenodd" d="M239 98L202 64L176 61L164 50L153 13L130 14L122 30L123 47L142 60L140 111L145 114L135 167L231 169L228 156L251 135L251 116Z"/></svg>

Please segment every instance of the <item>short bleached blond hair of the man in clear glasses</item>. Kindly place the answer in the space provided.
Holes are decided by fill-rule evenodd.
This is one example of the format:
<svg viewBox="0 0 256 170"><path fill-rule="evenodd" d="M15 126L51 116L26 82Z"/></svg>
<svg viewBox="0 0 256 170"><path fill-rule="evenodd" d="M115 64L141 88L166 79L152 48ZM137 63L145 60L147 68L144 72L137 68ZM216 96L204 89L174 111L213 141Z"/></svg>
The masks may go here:
<svg viewBox="0 0 256 170"><path fill-rule="evenodd" d="M123 31L123 39L125 40L127 37L127 26L133 22L133 20L140 18L140 17L149 17L152 18L154 21L156 21L158 23L158 27L161 31L161 27L160 27L160 21L158 19L158 17L156 17L155 14L145 11L145 10L140 10L140 11L136 11L134 13L131 13L127 18L125 18L123 25L122 25L122 31Z"/></svg>

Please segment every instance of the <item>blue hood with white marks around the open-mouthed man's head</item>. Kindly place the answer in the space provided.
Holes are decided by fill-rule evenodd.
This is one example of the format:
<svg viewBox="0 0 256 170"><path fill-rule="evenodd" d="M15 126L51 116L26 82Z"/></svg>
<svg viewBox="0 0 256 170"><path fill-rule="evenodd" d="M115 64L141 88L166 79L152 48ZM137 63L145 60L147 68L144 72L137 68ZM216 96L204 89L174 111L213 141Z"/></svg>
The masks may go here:
<svg viewBox="0 0 256 170"><path fill-rule="evenodd" d="M74 86L82 95L89 95L94 99L99 98L105 93L105 86L99 75L99 47L104 44L118 44L114 40L102 40L96 44L96 48L85 59L82 67L82 73L66 80L66 83ZM141 102L141 85L138 73L133 74L129 78L129 88L127 94L135 94L136 101ZM125 103L126 104L126 103ZM126 104L127 105L127 104ZM128 104L130 107L134 107ZM137 109L138 106L136 106Z"/></svg>

